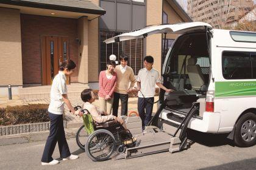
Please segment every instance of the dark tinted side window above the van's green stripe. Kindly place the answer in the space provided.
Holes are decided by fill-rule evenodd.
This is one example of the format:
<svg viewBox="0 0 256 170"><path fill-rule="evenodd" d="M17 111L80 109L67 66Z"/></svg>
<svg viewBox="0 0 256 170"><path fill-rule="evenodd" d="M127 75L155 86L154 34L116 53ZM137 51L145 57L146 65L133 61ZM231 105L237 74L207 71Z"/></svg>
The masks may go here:
<svg viewBox="0 0 256 170"><path fill-rule="evenodd" d="M222 74L228 80L252 78L250 54L245 52L223 52Z"/></svg>

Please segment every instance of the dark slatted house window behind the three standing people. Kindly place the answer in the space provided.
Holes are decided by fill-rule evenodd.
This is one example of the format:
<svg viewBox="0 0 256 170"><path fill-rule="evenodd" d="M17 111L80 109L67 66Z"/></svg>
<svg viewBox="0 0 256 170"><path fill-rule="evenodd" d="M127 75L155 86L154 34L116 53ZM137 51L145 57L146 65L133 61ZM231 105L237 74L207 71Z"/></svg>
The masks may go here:
<svg viewBox="0 0 256 170"><path fill-rule="evenodd" d="M119 61L119 55L125 53L128 57L128 66L132 67L133 72L137 75L138 71L143 68L143 39L132 39L129 41L114 42L105 44L105 39L121 34L121 32L101 32L101 56L100 70L105 70L109 56L116 55L116 61Z"/></svg>

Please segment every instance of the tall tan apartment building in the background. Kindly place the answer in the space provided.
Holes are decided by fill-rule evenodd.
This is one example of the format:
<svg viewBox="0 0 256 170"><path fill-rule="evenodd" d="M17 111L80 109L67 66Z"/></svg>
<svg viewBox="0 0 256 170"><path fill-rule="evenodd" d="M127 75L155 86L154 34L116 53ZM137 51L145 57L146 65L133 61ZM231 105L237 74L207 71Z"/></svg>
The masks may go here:
<svg viewBox="0 0 256 170"><path fill-rule="evenodd" d="M188 0L193 21L207 22L217 29L238 21L254 6L252 0Z"/></svg>

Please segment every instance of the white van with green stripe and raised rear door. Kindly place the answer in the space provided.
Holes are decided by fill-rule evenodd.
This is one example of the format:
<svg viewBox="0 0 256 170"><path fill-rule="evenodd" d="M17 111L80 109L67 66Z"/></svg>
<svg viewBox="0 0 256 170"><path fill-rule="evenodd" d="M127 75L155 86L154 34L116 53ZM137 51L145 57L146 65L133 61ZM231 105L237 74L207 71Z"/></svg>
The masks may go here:
<svg viewBox="0 0 256 170"><path fill-rule="evenodd" d="M105 42L145 38L155 33L180 36L162 67L162 83L175 92L160 92L158 119L180 124L194 102L199 112L188 128L229 133L238 146L256 143L256 33L212 29L204 22L154 25L123 33Z"/></svg>

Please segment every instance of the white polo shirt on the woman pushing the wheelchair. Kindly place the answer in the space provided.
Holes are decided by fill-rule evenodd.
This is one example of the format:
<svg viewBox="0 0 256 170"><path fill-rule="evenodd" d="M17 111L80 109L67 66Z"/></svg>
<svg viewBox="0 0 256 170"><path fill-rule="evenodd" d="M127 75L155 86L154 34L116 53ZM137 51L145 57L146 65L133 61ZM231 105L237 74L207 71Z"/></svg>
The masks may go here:
<svg viewBox="0 0 256 170"><path fill-rule="evenodd" d="M65 104L62 98L63 94L68 94L68 90L66 89L66 76L62 71L59 71L59 73L55 75L51 87L51 103L48 111L52 114L63 115Z"/></svg>

